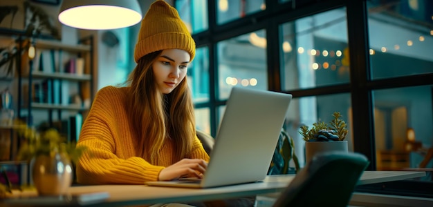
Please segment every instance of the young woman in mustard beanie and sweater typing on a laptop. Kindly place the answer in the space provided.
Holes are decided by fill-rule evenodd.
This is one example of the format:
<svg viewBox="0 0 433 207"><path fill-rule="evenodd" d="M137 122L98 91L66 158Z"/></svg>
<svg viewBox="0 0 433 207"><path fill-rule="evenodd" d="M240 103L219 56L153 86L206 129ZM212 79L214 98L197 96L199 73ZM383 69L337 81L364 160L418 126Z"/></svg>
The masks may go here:
<svg viewBox="0 0 433 207"><path fill-rule="evenodd" d="M145 184L201 177L209 156L196 137L185 79L195 43L176 9L152 3L142 19L128 86L98 91L77 146L80 184Z"/></svg>

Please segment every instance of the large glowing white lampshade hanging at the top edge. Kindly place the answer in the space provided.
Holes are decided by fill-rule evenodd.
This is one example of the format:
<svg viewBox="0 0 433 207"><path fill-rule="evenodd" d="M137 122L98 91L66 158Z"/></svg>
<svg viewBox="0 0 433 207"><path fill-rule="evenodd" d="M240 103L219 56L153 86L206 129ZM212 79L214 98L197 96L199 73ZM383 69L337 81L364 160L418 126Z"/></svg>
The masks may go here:
<svg viewBox="0 0 433 207"><path fill-rule="evenodd" d="M137 0L63 0L59 21L86 30L126 28L140 22Z"/></svg>

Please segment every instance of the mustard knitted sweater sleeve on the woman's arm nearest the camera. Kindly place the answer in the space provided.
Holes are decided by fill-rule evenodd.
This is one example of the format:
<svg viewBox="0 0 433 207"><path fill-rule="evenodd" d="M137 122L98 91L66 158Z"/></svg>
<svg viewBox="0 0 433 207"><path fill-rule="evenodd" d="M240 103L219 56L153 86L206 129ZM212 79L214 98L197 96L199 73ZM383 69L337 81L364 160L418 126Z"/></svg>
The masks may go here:
<svg viewBox="0 0 433 207"><path fill-rule="evenodd" d="M116 112L110 111L113 107L109 104L117 99L121 98L116 97L113 87L102 88L84 121L77 146L86 146L88 150L77 163L80 184L145 184L157 180L164 168L151 165L141 157L120 158L116 155L121 147L116 143L122 140L114 137L112 130L116 128L113 123L121 120L116 120Z"/></svg>

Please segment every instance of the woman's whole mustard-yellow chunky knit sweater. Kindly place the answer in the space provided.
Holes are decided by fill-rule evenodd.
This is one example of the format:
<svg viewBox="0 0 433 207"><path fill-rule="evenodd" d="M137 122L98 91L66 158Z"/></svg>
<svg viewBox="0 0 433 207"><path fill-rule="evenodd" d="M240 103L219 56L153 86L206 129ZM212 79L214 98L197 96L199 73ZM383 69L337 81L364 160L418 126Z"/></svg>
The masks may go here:
<svg viewBox="0 0 433 207"><path fill-rule="evenodd" d="M173 146L169 141L160 150L158 166L137 157L138 144L131 119L127 115L126 94L129 87L107 86L96 94L89 115L84 121L77 146L87 146L77 163L80 184L145 184L158 180L158 175L172 161ZM209 161L209 156L196 137L191 155Z"/></svg>

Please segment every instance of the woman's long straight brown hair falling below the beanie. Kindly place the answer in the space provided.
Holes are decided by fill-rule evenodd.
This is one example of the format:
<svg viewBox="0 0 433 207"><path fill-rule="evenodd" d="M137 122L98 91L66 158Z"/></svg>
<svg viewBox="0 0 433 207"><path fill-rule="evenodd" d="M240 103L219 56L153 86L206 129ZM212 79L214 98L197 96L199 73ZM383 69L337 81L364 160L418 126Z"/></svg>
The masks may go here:
<svg viewBox="0 0 433 207"><path fill-rule="evenodd" d="M127 81L131 86L129 114L139 139L136 152L151 164L158 163L159 150L167 139L171 139L174 146L173 162L185 158L192 150L196 135L187 77L167 95L158 90L154 81L152 63L161 52L141 57Z"/></svg>

